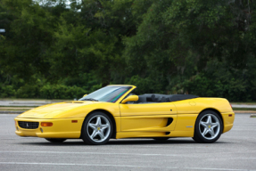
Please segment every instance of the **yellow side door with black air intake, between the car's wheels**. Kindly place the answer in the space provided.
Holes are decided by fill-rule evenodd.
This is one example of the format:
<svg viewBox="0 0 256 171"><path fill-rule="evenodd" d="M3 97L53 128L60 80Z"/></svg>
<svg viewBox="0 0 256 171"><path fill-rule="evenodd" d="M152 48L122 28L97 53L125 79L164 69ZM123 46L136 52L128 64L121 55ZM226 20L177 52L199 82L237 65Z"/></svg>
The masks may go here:
<svg viewBox="0 0 256 171"><path fill-rule="evenodd" d="M177 110L171 102L120 104L121 131L169 132Z"/></svg>

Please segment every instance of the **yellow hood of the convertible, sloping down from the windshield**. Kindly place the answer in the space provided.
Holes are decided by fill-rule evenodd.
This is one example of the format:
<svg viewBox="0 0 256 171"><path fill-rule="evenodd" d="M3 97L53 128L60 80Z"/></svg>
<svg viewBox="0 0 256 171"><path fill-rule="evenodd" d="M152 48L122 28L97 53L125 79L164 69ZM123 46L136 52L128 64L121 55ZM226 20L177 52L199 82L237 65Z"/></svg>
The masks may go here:
<svg viewBox="0 0 256 171"><path fill-rule="evenodd" d="M74 113L75 109L86 107L87 105L103 103L103 102L85 102L85 101L72 101L72 102L59 102L54 104L46 104L33 110L28 110L19 115L19 118L54 118L62 113Z"/></svg>

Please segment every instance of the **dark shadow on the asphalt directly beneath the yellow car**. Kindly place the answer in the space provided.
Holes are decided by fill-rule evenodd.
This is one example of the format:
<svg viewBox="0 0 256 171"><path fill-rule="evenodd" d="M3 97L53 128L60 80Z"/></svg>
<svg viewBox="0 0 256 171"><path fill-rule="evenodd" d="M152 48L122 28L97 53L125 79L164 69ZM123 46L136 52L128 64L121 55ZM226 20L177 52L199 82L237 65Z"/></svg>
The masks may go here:
<svg viewBox="0 0 256 171"><path fill-rule="evenodd" d="M230 142L214 142L216 143L230 143ZM16 143L17 144L17 143ZM18 144L23 145L36 145L36 146L84 146L88 145L82 140L67 140L66 142L19 142ZM119 139L119 140L110 140L105 145L151 145L151 144L159 144L159 145L168 145L168 144L199 144L194 142L192 139L178 139L178 138L170 138L166 141L156 141L153 139Z"/></svg>

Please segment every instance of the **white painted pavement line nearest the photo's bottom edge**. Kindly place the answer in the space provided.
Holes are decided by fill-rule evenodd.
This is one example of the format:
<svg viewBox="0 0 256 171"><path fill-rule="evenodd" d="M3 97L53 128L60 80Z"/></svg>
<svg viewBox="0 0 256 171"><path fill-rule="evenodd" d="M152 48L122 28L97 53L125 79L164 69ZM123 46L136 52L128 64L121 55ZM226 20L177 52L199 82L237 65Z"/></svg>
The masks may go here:
<svg viewBox="0 0 256 171"><path fill-rule="evenodd" d="M28 162L0 162L0 165L51 165L51 166L87 166L87 167L145 167L145 168L170 168L178 167L153 167L153 166L136 166L136 165L107 165L107 164L83 164L83 163L28 163Z"/></svg>

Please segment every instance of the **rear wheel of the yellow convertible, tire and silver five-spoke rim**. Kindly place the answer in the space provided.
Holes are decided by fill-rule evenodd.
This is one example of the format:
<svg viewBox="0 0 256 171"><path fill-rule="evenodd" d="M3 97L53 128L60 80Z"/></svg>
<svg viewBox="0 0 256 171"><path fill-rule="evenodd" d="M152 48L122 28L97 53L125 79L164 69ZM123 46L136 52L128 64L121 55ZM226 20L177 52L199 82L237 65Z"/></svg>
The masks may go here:
<svg viewBox="0 0 256 171"><path fill-rule="evenodd" d="M194 141L201 143L216 142L223 132L223 123L213 110L205 110L196 118Z"/></svg>

